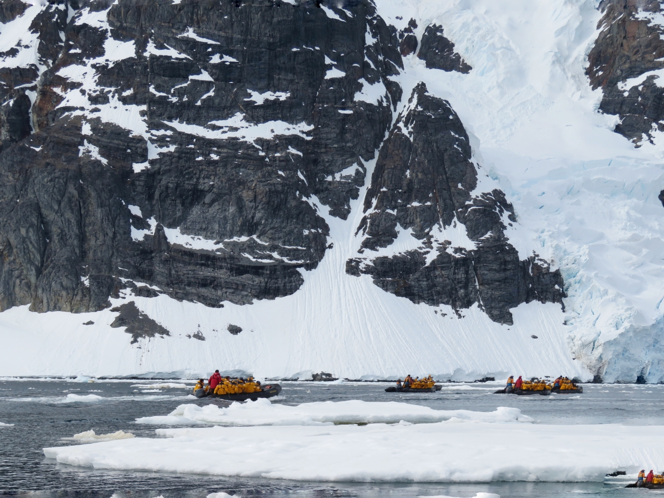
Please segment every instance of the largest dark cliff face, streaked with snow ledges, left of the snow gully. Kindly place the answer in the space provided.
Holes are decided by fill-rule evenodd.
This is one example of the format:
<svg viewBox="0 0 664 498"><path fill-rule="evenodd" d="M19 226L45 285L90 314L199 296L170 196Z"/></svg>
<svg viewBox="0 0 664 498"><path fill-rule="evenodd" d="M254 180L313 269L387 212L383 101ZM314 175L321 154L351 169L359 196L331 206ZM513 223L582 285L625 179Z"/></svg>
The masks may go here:
<svg viewBox="0 0 664 498"><path fill-rule="evenodd" d="M46 7L35 23L58 22L33 23L48 62L37 133L25 94L0 95L13 98L3 144L16 142L0 155L0 309L95 311L126 289L208 306L295 292L327 247L307 199L348 216L400 99L396 30L371 3L348 8ZM5 74L8 88L30 71Z"/></svg>

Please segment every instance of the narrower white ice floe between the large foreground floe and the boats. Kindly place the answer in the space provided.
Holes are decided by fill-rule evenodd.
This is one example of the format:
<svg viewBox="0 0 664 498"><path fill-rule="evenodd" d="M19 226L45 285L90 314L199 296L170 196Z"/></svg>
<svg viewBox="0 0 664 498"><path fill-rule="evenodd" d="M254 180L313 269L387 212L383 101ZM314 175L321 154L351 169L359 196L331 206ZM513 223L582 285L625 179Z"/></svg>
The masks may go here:
<svg viewBox="0 0 664 498"><path fill-rule="evenodd" d="M324 401L297 406L271 403L259 398L246 403L232 403L228 408L214 404L181 404L167 416L137 418L138 424L221 424L232 426L327 426L334 424L426 424L454 422L534 422L518 408L501 406L493 412L469 410L434 410L417 404L367 402L361 400Z"/></svg>

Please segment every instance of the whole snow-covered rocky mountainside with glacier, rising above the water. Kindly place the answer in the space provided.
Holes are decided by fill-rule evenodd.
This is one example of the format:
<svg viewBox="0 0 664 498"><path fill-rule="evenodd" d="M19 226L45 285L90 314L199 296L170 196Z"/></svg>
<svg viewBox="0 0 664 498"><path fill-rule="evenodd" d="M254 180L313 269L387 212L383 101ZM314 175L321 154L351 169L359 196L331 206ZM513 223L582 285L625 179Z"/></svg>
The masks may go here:
<svg viewBox="0 0 664 498"><path fill-rule="evenodd" d="M664 380L659 2L0 7L0 374Z"/></svg>

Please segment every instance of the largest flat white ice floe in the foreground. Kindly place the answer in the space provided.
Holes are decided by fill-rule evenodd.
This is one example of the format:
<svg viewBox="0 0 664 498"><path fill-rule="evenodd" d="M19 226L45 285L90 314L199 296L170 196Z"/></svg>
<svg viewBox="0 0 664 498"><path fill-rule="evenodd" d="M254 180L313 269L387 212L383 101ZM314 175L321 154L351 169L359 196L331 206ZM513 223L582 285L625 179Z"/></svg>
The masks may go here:
<svg viewBox="0 0 664 498"><path fill-rule="evenodd" d="M44 448L44 455L95 469L303 481L603 481L615 470L659 468L664 434L648 429L458 419L367 426L215 426L157 429L159 438Z"/></svg>

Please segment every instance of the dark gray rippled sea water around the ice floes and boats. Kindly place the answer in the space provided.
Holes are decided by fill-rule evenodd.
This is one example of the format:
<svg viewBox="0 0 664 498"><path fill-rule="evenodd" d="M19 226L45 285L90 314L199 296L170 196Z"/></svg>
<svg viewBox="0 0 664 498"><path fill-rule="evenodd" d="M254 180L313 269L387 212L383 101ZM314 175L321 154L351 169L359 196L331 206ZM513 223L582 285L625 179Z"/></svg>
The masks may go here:
<svg viewBox="0 0 664 498"><path fill-rule="evenodd" d="M141 416L165 415L183 402L226 406L220 400L192 400L190 389L169 388L143 392L131 382L81 383L66 380L0 380L0 495L80 498L205 498L225 491L242 496L269 497L394 497L448 495L472 497L478 492L501 497L623 497L660 491L625 489L624 479L605 483L489 483L489 484L357 484L307 483L277 479L222 478L201 475L137 471L101 471L61 465L45 459L42 448L68 445L60 440L94 429L97 434L116 430L153 437L154 426L134 424ZM177 381L176 381L177 382ZM144 383L141 381L141 383ZM439 410L493 411L512 406L544 424L631 424L664 426L664 386L587 385L581 395L509 396L492 394L499 386L473 384L469 388L444 384L435 394L384 392L385 384L282 383L275 402L401 401ZM96 402L71 401L68 394L94 394ZM219 462L222 463L222 462ZM214 463L211 463L213 465Z"/></svg>

